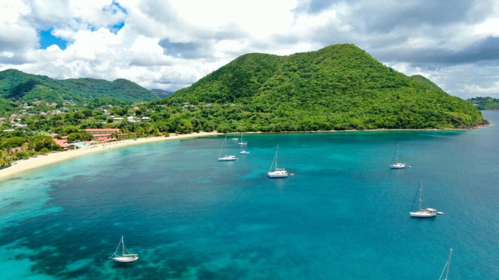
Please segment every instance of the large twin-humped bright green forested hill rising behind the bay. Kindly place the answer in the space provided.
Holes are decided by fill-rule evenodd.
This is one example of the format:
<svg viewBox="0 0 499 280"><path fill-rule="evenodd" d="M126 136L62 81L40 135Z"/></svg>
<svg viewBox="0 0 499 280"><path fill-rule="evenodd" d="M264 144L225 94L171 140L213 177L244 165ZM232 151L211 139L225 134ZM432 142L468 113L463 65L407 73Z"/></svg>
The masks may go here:
<svg viewBox="0 0 499 280"><path fill-rule="evenodd" d="M484 121L465 100L352 44L288 56L245 54L154 105L178 109L185 102L196 107L174 111L172 122L194 120L219 131L445 129ZM208 103L218 108L202 109Z"/></svg>

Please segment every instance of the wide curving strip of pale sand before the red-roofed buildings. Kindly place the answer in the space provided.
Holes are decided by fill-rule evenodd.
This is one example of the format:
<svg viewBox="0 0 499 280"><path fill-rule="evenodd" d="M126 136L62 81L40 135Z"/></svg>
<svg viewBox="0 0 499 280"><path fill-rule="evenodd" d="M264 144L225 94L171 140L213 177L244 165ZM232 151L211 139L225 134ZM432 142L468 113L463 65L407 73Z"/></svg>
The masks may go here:
<svg viewBox="0 0 499 280"><path fill-rule="evenodd" d="M60 152L52 152L47 155L39 155L38 157L31 157L26 160L18 160L16 161L16 164L7 167L5 169L0 170L0 180L26 171L34 168L38 168L41 166L45 166L48 164L52 164L55 162L67 160L76 156L88 154L88 153L93 153L93 152L98 152L98 151L103 151L104 149L114 149L114 148L119 148L119 147L124 147L124 146L129 146L129 145L136 145L136 144L143 144L143 143L150 143L150 142L157 142L157 141L171 141L171 140L182 140L182 139L193 139L193 138L200 138L200 137L207 137L207 136L213 136L217 135L217 133L213 132L200 132L200 133L191 133L191 134L182 134L182 135L177 135L177 134L171 134L169 137L163 137L163 136L158 136L158 137L148 137L148 138L139 138L137 140L133 139L128 139L128 140L121 140L121 141L116 141L116 142L110 142L104 145L93 145L93 146L85 146L79 149L75 150L68 150L68 151L60 151Z"/></svg>

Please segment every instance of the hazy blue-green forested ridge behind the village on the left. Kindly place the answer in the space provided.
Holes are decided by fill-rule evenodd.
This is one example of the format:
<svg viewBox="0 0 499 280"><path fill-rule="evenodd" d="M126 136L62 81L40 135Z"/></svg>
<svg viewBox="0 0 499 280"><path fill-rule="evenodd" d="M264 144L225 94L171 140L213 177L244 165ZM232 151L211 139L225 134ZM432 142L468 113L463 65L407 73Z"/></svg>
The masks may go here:
<svg viewBox="0 0 499 280"><path fill-rule="evenodd" d="M11 101L43 99L48 102L65 99L85 102L92 98L114 98L125 102L158 99L154 93L125 79L112 82L90 78L55 80L15 69L0 72L0 97Z"/></svg>

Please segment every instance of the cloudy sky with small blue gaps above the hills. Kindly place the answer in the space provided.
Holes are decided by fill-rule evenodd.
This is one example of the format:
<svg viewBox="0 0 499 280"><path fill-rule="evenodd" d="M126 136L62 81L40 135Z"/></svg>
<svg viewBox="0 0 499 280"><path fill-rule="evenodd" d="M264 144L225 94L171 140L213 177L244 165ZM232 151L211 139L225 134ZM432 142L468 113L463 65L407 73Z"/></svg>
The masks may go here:
<svg viewBox="0 0 499 280"><path fill-rule="evenodd" d="M241 54L336 43L499 98L499 0L0 0L0 70L57 79L177 90Z"/></svg>

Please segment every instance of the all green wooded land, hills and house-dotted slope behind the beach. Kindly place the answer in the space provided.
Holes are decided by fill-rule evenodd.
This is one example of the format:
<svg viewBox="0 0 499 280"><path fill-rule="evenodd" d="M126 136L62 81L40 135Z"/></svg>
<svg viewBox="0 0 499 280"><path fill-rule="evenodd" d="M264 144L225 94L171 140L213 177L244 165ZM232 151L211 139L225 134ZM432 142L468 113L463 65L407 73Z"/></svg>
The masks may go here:
<svg viewBox="0 0 499 280"><path fill-rule="evenodd" d="M111 137L123 139L214 130L449 129L484 122L473 104L423 76L408 77L386 67L349 44L289 56L246 54L149 103L130 103L145 96L140 87L133 94L97 94L130 84L0 72L0 95L17 100L0 103L0 109L4 105L16 113L0 111L6 116L0 120L0 165L60 149L48 136L52 133L69 142L91 140L85 129L118 128Z"/></svg>

